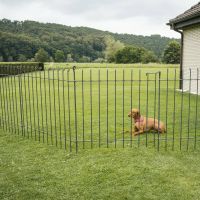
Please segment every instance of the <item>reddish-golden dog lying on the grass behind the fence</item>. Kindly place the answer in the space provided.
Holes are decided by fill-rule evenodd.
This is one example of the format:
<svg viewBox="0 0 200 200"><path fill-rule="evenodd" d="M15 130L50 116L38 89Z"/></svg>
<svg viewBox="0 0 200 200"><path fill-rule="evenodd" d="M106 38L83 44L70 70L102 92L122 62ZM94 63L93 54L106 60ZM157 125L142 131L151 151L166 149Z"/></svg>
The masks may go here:
<svg viewBox="0 0 200 200"><path fill-rule="evenodd" d="M131 117L134 120L134 130L132 134L134 136L143 134L144 132L148 131L156 131L158 133L165 133L165 125L163 122L158 121L154 118L146 118L140 115L140 111L137 108L133 108L130 113L128 114L128 117Z"/></svg>

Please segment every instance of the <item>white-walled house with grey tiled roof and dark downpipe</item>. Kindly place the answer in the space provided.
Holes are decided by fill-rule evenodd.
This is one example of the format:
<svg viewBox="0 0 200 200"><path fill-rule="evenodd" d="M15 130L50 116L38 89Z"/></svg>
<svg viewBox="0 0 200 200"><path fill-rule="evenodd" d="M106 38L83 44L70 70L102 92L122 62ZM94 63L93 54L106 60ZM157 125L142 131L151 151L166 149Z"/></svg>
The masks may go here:
<svg viewBox="0 0 200 200"><path fill-rule="evenodd" d="M167 25L181 34L180 89L200 94L200 2Z"/></svg>

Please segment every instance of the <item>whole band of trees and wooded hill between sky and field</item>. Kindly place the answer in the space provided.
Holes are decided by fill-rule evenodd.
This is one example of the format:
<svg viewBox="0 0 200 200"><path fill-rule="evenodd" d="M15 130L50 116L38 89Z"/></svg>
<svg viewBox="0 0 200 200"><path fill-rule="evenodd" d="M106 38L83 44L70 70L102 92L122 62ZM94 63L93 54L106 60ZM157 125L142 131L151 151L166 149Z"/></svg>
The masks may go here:
<svg viewBox="0 0 200 200"><path fill-rule="evenodd" d="M119 36L119 34L86 27L2 19L0 20L0 62L177 62L176 59L165 59L165 48L168 43L164 46L166 41L163 42L162 37L158 37L162 42L157 41L156 44L157 49L160 46L164 48L159 55L154 48L138 44L137 40L133 39L138 36L127 34L121 39ZM142 37L147 40L146 37ZM154 36L149 37L149 41L153 41L153 38L155 39ZM180 47L179 41L169 38L168 40ZM179 54L177 53L176 56ZM174 54L168 52L167 55L172 58Z"/></svg>

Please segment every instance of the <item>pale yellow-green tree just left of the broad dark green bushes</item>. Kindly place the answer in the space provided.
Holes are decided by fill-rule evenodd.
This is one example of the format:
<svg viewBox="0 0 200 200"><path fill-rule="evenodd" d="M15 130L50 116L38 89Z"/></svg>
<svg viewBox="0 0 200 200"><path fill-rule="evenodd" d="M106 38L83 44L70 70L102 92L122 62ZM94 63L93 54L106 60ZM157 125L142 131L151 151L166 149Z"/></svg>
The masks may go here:
<svg viewBox="0 0 200 200"><path fill-rule="evenodd" d="M105 59L108 62L115 61L115 54L117 51L124 48L124 44L121 43L119 40L113 39L111 36L105 37L106 49L104 51Z"/></svg>

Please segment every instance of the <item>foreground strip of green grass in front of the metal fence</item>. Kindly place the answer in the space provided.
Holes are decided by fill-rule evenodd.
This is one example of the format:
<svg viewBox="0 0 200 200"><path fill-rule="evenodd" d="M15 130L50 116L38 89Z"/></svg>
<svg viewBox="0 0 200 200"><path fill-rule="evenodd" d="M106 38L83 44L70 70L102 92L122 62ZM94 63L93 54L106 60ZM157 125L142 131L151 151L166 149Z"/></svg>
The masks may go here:
<svg viewBox="0 0 200 200"><path fill-rule="evenodd" d="M0 130L0 199L200 199L199 151L69 154Z"/></svg>

